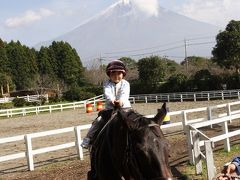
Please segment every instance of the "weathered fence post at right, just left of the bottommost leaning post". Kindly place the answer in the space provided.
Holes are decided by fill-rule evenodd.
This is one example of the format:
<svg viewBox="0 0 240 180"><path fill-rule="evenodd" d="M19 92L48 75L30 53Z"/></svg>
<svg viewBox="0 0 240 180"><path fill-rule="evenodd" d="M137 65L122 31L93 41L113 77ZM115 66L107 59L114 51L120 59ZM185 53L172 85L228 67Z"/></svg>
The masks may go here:
<svg viewBox="0 0 240 180"><path fill-rule="evenodd" d="M192 140L193 140L193 152L194 152L194 161L195 161L195 172L197 175L202 173L202 157L201 150L199 147L200 137L197 131L192 131Z"/></svg>

